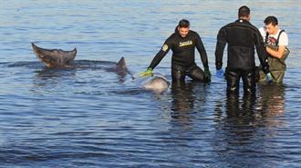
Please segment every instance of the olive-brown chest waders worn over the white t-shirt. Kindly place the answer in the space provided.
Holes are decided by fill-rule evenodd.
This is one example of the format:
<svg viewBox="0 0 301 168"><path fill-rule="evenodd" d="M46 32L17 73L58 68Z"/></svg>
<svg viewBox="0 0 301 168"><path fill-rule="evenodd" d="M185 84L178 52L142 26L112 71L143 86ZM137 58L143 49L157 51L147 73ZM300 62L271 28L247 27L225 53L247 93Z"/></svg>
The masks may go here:
<svg viewBox="0 0 301 168"><path fill-rule="evenodd" d="M284 32L285 30L281 30L275 44L268 44L268 33L265 35L265 45L269 48L271 48L274 51L277 51L279 48L279 38L280 35ZM273 75L273 82L281 84L283 82L284 76L285 76L285 70L286 70L286 64L285 64L285 59L287 58L289 54L289 50L287 47L285 47L285 53L281 58L275 58L274 56L269 55L268 56L268 64L269 64L269 69L271 74ZM265 82L265 73L260 71L259 73L259 82Z"/></svg>

